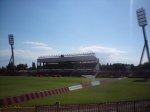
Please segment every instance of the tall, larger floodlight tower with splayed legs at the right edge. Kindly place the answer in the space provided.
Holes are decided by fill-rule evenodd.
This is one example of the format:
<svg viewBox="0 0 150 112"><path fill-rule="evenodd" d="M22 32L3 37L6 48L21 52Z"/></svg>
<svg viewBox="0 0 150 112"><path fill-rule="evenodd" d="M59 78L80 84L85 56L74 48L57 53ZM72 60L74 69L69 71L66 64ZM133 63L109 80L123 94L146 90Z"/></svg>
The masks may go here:
<svg viewBox="0 0 150 112"><path fill-rule="evenodd" d="M146 49L146 52L147 52L148 62L150 63L148 40L147 40L147 37L146 37L146 31L145 31L145 26L147 25L147 20L146 20L146 14L145 14L145 9L144 8L137 9L136 14L137 14L137 19L138 19L139 26L142 27L143 36L144 36L144 47L143 47L143 51L142 51L142 55L141 55L141 59L140 59L140 65L141 65L145 49Z"/></svg>

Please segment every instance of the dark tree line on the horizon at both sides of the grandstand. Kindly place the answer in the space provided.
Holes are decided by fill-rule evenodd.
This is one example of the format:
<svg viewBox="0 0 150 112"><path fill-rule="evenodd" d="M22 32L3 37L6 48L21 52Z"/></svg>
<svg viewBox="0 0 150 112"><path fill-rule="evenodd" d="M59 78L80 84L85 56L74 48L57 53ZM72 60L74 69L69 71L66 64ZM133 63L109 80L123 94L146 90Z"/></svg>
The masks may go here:
<svg viewBox="0 0 150 112"><path fill-rule="evenodd" d="M8 64L7 66L0 67L0 71L9 71L12 70L12 65ZM36 64L32 62L32 66L28 67L27 64L18 64L14 66L16 71L19 70L36 70ZM122 63L115 63L115 64L99 64L100 71L137 71L137 70L150 70L150 63L144 63L142 65L135 66L133 64L122 64Z"/></svg>

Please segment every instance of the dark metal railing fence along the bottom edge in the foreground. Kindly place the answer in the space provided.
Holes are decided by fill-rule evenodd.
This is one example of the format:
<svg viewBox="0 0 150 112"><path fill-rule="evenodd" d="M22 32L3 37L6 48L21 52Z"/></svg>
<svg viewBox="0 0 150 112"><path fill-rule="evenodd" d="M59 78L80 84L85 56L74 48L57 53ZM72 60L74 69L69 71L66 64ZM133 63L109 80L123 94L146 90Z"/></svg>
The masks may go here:
<svg viewBox="0 0 150 112"><path fill-rule="evenodd" d="M150 100L120 101L101 104L43 105L36 112L150 112Z"/></svg>

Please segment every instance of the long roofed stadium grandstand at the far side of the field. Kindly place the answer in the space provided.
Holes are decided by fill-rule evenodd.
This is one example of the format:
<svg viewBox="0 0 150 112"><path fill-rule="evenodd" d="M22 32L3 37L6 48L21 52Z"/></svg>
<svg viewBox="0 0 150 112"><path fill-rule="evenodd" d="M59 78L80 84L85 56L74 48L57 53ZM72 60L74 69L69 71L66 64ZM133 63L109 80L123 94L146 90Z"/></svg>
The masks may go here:
<svg viewBox="0 0 150 112"><path fill-rule="evenodd" d="M95 75L99 70L99 59L95 53L40 56L37 68L38 72L51 76Z"/></svg>

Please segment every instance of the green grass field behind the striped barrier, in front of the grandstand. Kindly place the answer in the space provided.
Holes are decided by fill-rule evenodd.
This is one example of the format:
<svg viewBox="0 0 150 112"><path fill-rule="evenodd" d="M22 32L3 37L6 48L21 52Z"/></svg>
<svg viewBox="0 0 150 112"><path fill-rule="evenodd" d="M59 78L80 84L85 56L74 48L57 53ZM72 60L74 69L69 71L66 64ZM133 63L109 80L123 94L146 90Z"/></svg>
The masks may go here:
<svg viewBox="0 0 150 112"><path fill-rule="evenodd" d="M0 77L0 98L80 83L81 78Z"/></svg>

